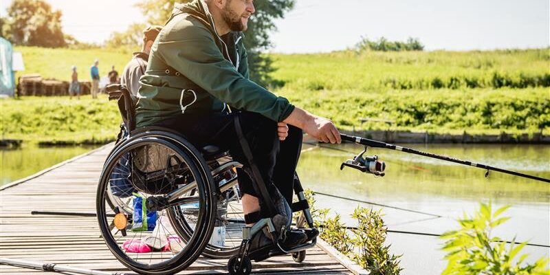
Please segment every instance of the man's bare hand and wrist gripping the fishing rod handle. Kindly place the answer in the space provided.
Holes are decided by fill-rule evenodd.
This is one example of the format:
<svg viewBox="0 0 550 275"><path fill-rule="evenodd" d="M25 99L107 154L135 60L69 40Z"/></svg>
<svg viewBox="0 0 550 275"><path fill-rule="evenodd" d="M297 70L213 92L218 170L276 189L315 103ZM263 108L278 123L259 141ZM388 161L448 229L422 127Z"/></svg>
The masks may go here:
<svg viewBox="0 0 550 275"><path fill-rule="evenodd" d="M283 122L304 130L306 133L322 142L338 144L342 142L340 132L338 132L338 129L336 129L336 126L331 120L311 114L298 107L294 108L294 111L292 111Z"/></svg>

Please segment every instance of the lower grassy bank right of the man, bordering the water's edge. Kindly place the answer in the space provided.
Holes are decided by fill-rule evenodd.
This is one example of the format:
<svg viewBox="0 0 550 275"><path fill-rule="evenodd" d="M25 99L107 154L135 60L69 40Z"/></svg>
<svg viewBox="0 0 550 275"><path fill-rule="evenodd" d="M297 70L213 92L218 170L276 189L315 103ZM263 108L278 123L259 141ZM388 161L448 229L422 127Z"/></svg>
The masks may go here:
<svg viewBox="0 0 550 275"><path fill-rule="evenodd" d="M380 122L394 120L394 130L451 133L538 132L550 129L550 91L529 89L452 90L321 90L278 91L298 107L331 118L340 129L387 129Z"/></svg>

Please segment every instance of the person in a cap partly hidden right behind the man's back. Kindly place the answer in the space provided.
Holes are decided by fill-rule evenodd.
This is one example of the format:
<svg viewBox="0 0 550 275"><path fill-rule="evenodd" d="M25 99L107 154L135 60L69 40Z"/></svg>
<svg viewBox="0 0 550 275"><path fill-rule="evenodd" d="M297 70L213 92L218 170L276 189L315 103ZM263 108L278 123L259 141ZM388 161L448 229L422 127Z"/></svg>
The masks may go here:
<svg viewBox="0 0 550 275"><path fill-rule="evenodd" d="M132 60L126 64L122 76L120 77L120 85L130 91L130 94L137 96L137 90L140 89L140 77L145 74L147 70L147 61L149 59L149 53L151 52L151 46L162 26L150 25L143 30L143 45L141 52L134 52Z"/></svg>

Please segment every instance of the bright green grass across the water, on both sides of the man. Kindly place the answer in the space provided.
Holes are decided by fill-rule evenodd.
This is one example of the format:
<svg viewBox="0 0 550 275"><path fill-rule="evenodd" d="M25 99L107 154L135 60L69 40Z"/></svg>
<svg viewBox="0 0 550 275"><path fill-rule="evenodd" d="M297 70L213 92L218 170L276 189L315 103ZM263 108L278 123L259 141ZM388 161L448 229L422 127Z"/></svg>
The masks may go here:
<svg viewBox="0 0 550 275"><path fill-rule="evenodd" d="M80 79L100 59L100 74L119 72L132 50L16 47L25 74ZM388 129L360 118L394 120L393 130L431 133L550 134L550 49L488 52L272 54L272 91L331 118L341 129ZM19 73L21 74L21 73ZM0 100L3 138L59 143L113 140L120 118L106 98Z"/></svg>

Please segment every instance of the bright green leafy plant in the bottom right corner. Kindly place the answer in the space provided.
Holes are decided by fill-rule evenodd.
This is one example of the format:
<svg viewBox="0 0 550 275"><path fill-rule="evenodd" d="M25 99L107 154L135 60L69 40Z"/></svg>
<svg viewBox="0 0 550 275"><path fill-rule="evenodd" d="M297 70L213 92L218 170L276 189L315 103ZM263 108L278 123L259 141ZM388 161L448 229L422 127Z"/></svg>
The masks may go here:
<svg viewBox="0 0 550 275"><path fill-rule="evenodd" d="M493 212L490 202L481 203L473 217L464 214L463 219L458 220L461 226L459 230L441 235L441 239L446 240L443 250L448 252L445 256L448 265L443 275L549 274L548 259L541 258L535 263L522 265L527 254L520 256L519 253L527 243L516 245L514 238L507 245L497 236L491 236L496 226L510 219L499 217L507 208L509 206Z"/></svg>

